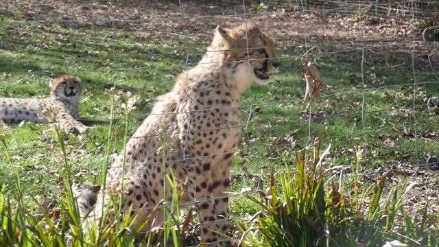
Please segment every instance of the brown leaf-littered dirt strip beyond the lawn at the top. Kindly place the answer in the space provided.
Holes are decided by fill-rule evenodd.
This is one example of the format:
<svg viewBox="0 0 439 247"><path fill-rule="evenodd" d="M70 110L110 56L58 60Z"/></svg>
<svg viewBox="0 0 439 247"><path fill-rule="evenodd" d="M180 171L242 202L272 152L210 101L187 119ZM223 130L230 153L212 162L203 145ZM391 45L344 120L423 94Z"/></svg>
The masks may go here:
<svg viewBox="0 0 439 247"><path fill-rule="evenodd" d="M231 3L229 3L231 2ZM244 8L245 6L245 8ZM254 3L242 1L2 1L3 14L21 11L25 19L41 23L61 22L63 25L86 23L94 28L111 27L125 30L137 40L180 39L182 43L209 43L217 25L257 23L276 37L277 46L309 49L318 45L320 51L366 47L374 56L366 62L401 64L414 56L416 64L439 69L437 43L425 43L422 31L437 24L436 15L423 14L410 8L386 8L376 18L372 5L346 3L316 5L315 10L286 9L276 3L261 10ZM434 5L434 8L438 6ZM289 10L287 12L286 10ZM361 12L359 11L361 10ZM427 12L429 13L429 12ZM390 47L390 48L389 48ZM379 58L379 56L381 58ZM390 61L390 62L389 62Z"/></svg>

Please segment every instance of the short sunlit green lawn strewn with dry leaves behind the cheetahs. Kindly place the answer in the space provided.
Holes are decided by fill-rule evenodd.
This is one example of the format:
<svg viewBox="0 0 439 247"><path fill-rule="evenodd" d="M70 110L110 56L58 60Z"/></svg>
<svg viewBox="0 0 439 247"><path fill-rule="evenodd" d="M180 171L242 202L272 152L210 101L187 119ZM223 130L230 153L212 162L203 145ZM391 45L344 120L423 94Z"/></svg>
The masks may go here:
<svg viewBox="0 0 439 247"><path fill-rule="evenodd" d="M110 141L110 153L118 154L123 149L123 136L132 135L150 113L154 98L169 91L176 75L187 69L187 49L191 51L190 62L200 59L206 49L205 43L187 43L182 38L145 40L121 27L95 27L81 22L22 23L23 16L24 13L13 12L0 17L1 21L8 22L0 25L0 97L48 97L51 78L62 73L82 78L85 90L80 114L84 122L95 128L81 136L64 139L65 156L73 169L73 183L102 181L100 167L104 162L111 110L105 90L115 85L117 91L130 91L141 98L132 110L128 132L123 113L117 111L112 131L121 134ZM283 172L284 162L294 169L296 154L292 146L283 141L293 132L298 147L305 148L313 144L312 139L322 130L323 148L331 143L324 169L355 165L355 154L364 143L368 152L367 160L361 164L363 172L375 172L377 168L383 171L398 165L414 169L425 163L428 155L439 154L438 137L424 136L429 132L438 133L438 117L428 113L423 102L427 95L439 95L439 85L426 83L437 82L437 78L421 64L416 65L419 84L414 95L410 51L401 54L407 61L403 67L372 64L370 61L373 62L376 55L366 50L367 59L361 68L361 49L315 56L314 62L330 88L322 93L324 101L311 108L316 117L311 119L310 132L306 104L302 102L305 82L300 56L303 52L298 47L278 49L281 73L272 77L269 86L253 85L245 93L241 104L243 144L233 161L234 175L244 171L262 173L261 181L265 183L259 184L259 189L265 189L269 185L265 178L270 167L275 167L276 174ZM364 114L361 113L363 96ZM120 108L120 104L117 102L116 108ZM416 110L412 110L414 105ZM395 128L411 132L416 129L419 137L415 139ZM60 209L63 185L57 164L63 154L54 145L56 135L51 127L25 123L10 126L3 134L11 157L9 162L6 156L0 155L0 180L5 183L5 194L12 196L16 191L14 170L19 174L21 198L27 208L41 213L36 202L49 198L54 202L52 210ZM243 176L233 180L232 190L239 192L248 186L254 190L257 185L250 176ZM352 189L353 182L347 181L345 186ZM437 202L434 198L434 203ZM248 219L248 215L260 209L243 197L230 200L234 222Z"/></svg>

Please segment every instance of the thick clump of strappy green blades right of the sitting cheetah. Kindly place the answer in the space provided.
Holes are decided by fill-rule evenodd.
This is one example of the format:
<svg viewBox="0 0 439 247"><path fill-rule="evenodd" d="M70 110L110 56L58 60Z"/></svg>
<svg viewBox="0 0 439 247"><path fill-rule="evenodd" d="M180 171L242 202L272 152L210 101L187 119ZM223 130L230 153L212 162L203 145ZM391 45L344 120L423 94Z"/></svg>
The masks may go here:
<svg viewBox="0 0 439 247"><path fill-rule="evenodd" d="M382 176L362 183L361 174L355 174L327 188L319 165L320 141L312 157L309 163L305 151L296 153L297 171L285 163L281 187L274 186L272 172L268 193L248 197L262 210L255 226L241 228L243 246L382 246L390 239L410 246L439 244L438 215L427 213L428 204L412 215L405 211L403 196L412 187L407 180L386 185L390 179ZM346 194L344 184L351 180L353 193Z"/></svg>

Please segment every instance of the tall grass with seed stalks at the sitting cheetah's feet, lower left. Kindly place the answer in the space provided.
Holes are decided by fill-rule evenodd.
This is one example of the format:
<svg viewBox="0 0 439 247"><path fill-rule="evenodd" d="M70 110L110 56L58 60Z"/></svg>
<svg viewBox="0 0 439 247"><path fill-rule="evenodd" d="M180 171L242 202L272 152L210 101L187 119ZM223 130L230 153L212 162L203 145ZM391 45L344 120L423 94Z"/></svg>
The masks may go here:
<svg viewBox="0 0 439 247"><path fill-rule="evenodd" d="M117 99L116 99L117 100ZM128 124L130 122L130 113L132 107L128 102L124 108L126 120L126 132L124 143L128 140ZM111 100L110 128L108 130L108 143L104 163L102 164L103 186L106 184L106 173L108 167L108 156L110 154L110 143L114 138L112 132L112 117L115 111L115 99ZM0 126L3 128L3 126ZM147 217L139 228L133 228L134 219L137 213L132 213L131 208L121 217L121 195L119 198L110 199L108 207L104 209L105 215L115 215L115 222L104 224L104 220L93 222L91 225L83 224L84 218L80 215L78 202L73 195L73 174L72 165L69 162L67 145L64 143L69 137L57 125L54 125L55 140L60 149L57 168L62 178L62 190L60 196L60 211L49 212L45 207L42 217L35 217L34 212L29 211L23 204L23 187L21 179L17 172L14 172L14 166L8 152L8 143L4 137L4 131L0 129L0 143L5 157L10 163L11 172L14 174L15 184L13 198L7 196L6 185L3 184L0 191L0 246L156 246L163 241L165 246L169 243L169 237L172 239L174 246L181 245L181 236L187 227L188 222L183 224L180 229L180 208L178 207L179 198L182 194L177 187L174 176L165 177L172 191L172 203L163 204L165 213L165 223L163 228L155 229L141 233L143 226L152 220L154 211ZM125 169L124 169L125 171ZM11 200L16 203L11 202ZM35 200L36 204L39 204ZM142 210L142 209L140 209ZM116 213L114 213L116 212ZM84 228L85 227L85 228Z"/></svg>

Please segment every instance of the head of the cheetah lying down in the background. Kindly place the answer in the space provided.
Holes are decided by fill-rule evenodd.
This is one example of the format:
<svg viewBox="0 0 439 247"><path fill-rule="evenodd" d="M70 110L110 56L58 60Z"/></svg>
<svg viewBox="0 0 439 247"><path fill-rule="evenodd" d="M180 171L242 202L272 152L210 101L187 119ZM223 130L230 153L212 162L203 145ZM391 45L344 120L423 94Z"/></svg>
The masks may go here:
<svg viewBox="0 0 439 247"><path fill-rule="evenodd" d="M79 102L82 83L75 75L61 75L50 82L51 97Z"/></svg>

